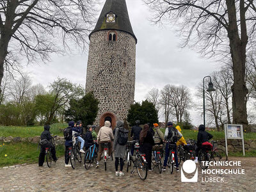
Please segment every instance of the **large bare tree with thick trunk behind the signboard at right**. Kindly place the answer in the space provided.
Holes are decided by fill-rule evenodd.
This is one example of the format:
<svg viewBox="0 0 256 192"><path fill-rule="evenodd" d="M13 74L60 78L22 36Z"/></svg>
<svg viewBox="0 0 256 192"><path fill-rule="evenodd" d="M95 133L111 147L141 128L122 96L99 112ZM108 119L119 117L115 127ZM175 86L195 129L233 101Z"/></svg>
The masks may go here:
<svg viewBox="0 0 256 192"><path fill-rule="evenodd" d="M208 57L232 59L233 122L248 125L245 83L246 49L255 50L255 1L253 0L144 0L154 22L176 22L184 46L192 43ZM249 44L248 44L249 42ZM249 46L248 46L249 45ZM217 58L216 58L217 59ZM227 60L223 60L227 61Z"/></svg>

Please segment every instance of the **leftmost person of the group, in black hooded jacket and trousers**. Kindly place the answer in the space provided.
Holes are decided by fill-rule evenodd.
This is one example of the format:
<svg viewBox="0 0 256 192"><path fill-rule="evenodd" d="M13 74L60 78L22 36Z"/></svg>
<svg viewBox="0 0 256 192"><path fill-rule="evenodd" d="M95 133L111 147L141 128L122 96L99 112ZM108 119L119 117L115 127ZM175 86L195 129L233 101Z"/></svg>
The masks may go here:
<svg viewBox="0 0 256 192"><path fill-rule="evenodd" d="M41 141L42 140L47 140L50 143L50 148L51 148L51 153L52 153L52 159L53 161L57 161L57 157L56 157L56 150L54 145L52 145L51 140L52 140L52 136L51 136L51 132L50 130L50 125L44 125L44 131L41 134ZM48 147L48 146L47 146ZM45 157L45 146L40 146L40 154L38 157L38 165L39 166L43 166L44 164L44 157Z"/></svg>

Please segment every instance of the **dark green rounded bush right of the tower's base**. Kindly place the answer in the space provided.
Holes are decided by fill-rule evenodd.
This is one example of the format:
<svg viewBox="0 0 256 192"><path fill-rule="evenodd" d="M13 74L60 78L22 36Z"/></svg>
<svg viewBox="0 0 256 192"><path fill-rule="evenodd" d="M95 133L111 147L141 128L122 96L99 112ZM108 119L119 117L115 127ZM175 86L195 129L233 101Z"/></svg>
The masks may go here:
<svg viewBox="0 0 256 192"><path fill-rule="evenodd" d="M144 100L141 104L135 102L129 109L127 120L131 125L134 125L136 120L140 120L140 124L154 124L158 122L157 110L148 100Z"/></svg>

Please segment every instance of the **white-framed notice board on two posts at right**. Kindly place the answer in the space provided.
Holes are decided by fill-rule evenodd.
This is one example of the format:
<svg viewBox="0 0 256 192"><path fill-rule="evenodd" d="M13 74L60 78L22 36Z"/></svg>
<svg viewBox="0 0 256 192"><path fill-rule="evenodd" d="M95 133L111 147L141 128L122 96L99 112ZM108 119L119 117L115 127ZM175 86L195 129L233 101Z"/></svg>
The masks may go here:
<svg viewBox="0 0 256 192"><path fill-rule="evenodd" d="M242 140L243 155L245 156L243 125L225 124L225 143L226 143L226 153L227 153L227 156L228 156L228 142L227 142L227 140Z"/></svg>

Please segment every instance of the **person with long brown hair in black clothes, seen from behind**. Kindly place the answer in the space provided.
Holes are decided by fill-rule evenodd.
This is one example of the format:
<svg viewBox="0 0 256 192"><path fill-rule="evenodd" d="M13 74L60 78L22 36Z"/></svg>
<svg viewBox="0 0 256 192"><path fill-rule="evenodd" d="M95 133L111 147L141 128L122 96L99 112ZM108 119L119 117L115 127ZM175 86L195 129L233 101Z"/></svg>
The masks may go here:
<svg viewBox="0 0 256 192"><path fill-rule="evenodd" d="M152 171L151 161L152 161L152 147L155 145L152 133L150 132L148 124L143 126L143 130L140 132L140 146L141 152L146 155L146 161L148 165L148 170Z"/></svg>

